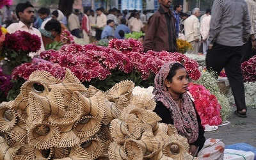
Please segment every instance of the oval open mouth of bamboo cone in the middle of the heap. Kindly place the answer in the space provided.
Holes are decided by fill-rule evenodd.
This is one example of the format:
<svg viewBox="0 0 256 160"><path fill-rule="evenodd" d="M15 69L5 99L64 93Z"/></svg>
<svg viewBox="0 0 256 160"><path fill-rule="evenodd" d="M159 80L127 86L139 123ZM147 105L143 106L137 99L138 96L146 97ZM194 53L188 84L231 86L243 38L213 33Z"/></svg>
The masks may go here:
<svg viewBox="0 0 256 160"><path fill-rule="evenodd" d="M79 138L86 138L96 134L101 127L100 120L95 116L84 116L74 124L73 130Z"/></svg>

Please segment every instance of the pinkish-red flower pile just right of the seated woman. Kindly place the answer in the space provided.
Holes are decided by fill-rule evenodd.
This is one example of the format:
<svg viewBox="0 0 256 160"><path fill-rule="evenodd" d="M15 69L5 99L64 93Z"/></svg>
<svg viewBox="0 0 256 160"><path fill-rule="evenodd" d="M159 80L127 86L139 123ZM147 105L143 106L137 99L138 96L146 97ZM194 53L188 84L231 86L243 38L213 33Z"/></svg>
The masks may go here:
<svg viewBox="0 0 256 160"><path fill-rule="evenodd" d="M204 126L220 125L221 120L221 106L215 95L212 95L204 86L195 83L189 83L188 90L193 99L195 99L196 111L202 120L201 124Z"/></svg>

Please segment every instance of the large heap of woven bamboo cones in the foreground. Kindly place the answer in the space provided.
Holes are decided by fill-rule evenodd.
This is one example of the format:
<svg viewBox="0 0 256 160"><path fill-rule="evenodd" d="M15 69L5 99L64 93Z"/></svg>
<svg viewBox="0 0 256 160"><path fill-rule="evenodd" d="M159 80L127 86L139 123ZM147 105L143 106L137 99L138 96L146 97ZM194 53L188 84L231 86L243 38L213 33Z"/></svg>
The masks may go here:
<svg viewBox="0 0 256 160"><path fill-rule="evenodd" d="M107 92L35 71L0 104L2 159L192 159L186 138L161 124L147 95L122 81Z"/></svg>

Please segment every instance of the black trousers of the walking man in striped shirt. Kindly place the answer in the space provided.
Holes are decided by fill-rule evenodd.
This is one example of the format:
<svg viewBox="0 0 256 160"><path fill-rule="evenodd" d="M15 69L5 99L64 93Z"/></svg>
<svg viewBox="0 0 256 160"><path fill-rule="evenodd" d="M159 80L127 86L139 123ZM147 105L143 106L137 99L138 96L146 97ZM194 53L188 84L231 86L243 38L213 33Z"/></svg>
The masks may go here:
<svg viewBox="0 0 256 160"><path fill-rule="evenodd" d="M220 44L214 44L206 54L207 69L212 69L220 74L222 68L225 68L238 111L247 109L244 98L243 72L241 70L242 55L243 46L227 47Z"/></svg>

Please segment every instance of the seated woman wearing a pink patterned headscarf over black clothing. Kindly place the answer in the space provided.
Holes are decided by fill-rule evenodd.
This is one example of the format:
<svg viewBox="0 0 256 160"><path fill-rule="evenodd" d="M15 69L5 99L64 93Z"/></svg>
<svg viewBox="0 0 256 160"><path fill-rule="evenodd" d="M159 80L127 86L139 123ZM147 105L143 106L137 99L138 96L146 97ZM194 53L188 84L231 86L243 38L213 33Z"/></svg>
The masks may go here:
<svg viewBox="0 0 256 160"><path fill-rule="evenodd" d="M179 62L165 63L154 79L154 112L161 122L172 124L181 136L188 139L189 153L198 159L223 159L225 145L222 140L207 139L195 104L189 97L188 74ZM200 151L200 152L199 152Z"/></svg>

